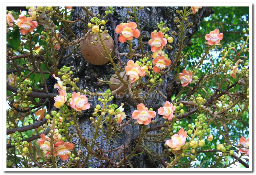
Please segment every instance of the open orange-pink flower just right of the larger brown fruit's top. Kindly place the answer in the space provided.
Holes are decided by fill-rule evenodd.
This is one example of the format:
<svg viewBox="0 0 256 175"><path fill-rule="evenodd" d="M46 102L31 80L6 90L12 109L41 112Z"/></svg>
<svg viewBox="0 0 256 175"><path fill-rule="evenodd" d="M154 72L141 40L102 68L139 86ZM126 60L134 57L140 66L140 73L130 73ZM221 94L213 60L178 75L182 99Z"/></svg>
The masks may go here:
<svg viewBox="0 0 256 175"><path fill-rule="evenodd" d="M117 25L116 32L121 33L118 40L124 43L126 40L131 40L133 37L139 38L140 32L136 28L137 24L135 22L121 23Z"/></svg>

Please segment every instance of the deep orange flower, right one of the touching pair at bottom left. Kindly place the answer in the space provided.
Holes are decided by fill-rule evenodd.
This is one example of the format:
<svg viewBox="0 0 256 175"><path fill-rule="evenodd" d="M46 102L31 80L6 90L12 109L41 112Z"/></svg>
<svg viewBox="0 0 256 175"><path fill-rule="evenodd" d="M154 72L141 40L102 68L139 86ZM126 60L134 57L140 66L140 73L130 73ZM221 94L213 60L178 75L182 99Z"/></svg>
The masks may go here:
<svg viewBox="0 0 256 175"><path fill-rule="evenodd" d="M62 140L58 141L54 145L54 156L59 156L61 160L65 161L69 158L70 150L74 148L73 143L64 142Z"/></svg>

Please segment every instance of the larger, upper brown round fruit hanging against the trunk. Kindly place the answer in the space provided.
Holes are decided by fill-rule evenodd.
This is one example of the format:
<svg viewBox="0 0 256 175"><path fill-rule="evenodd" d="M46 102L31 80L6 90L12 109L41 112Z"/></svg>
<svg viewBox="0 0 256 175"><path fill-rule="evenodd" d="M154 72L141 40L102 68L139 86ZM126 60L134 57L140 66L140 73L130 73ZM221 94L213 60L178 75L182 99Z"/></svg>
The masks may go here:
<svg viewBox="0 0 256 175"><path fill-rule="evenodd" d="M110 52L110 49L114 50L114 40L107 33L104 33L102 35L102 38L106 38L106 36L108 36L109 39L105 40L104 44L106 45L106 47ZM87 62L94 65L106 64L109 60L106 59L106 52L104 48L99 43L95 43L94 45L91 44L93 41L95 41L94 40L95 37L97 37L98 38L97 41L100 42L100 38L96 35L88 35L83 41L81 41L80 49L81 49L83 58ZM114 52L112 51L110 56L113 57L113 55L114 55Z"/></svg>

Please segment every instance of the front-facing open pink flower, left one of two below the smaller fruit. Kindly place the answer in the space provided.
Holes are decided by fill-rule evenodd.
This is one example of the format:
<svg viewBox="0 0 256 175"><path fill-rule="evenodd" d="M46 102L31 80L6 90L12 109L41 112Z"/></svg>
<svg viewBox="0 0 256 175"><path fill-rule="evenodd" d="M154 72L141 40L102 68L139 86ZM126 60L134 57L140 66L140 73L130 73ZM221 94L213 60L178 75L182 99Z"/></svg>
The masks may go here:
<svg viewBox="0 0 256 175"><path fill-rule="evenodd" d="M143 103L137 105L137 109L133 111L132 118L137 119L139 124L148 125L151 122L151 118L156 116L155 111L149 111Z"/></svg>

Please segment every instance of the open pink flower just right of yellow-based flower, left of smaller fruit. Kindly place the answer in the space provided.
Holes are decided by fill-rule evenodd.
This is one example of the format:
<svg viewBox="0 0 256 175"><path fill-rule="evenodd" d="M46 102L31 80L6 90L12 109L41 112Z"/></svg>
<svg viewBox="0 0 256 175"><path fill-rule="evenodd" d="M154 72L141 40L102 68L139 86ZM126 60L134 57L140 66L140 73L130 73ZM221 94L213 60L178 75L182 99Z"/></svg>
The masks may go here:
<svg viewBox="0 0 256 175"><path fill-rule="evenodd" d="M70 106L76 111L86 110L90 108L90 104L87 103L87 97L85 95L80 95L80 93L73 92L72 100Z"/></svg>

